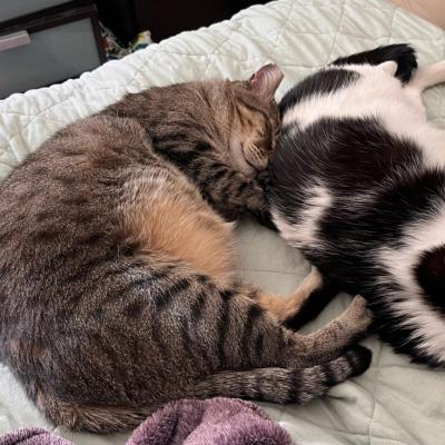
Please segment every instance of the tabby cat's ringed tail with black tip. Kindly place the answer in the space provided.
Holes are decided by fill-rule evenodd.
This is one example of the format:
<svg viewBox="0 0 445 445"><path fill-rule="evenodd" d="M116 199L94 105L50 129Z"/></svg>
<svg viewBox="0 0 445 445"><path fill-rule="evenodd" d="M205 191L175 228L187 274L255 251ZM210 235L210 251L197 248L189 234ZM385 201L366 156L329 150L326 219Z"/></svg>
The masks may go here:
<svg viewBox="0 0 445 445"><path fill-rule="evenodd" d="M370 357L367 348L355 346L332 362L308 368L274 367L220 372L195 383L182 396L225 396L303 404L324 395L330 386L364 373L369 367ZM162 406L161 403L140 408L77 405L49 397L44 397L44 400L41 397L38 404L57 425L95 433L115 433L136 427Z"/></svg>

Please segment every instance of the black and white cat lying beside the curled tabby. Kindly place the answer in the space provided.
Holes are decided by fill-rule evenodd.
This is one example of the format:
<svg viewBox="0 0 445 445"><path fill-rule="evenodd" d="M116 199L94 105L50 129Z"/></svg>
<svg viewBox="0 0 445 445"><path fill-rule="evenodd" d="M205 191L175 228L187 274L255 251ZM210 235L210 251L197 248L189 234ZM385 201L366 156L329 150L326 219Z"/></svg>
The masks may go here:
<svg viewBox="0 0 445 445"><path fill-rule="evenodd" d="M383 47L287 92L268 197L281 236L368 300L384 340L445 365L445 131L421 98L445 62L416 66L408 46Z"/></svg>

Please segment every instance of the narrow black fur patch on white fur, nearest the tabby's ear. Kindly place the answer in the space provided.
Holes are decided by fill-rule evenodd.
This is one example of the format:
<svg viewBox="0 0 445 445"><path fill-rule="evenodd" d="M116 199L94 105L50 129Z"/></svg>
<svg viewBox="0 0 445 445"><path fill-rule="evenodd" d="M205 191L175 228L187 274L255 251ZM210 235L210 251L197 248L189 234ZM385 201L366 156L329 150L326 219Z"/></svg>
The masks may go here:
<svg viewBox="0 0 445 445"><path fill-rule="evenodd" d="M354 83L360 75L346 69L325 69L307 77L286 92L279 102L279 112L283 115L303 99L315 95L335 92Z"/></svg>

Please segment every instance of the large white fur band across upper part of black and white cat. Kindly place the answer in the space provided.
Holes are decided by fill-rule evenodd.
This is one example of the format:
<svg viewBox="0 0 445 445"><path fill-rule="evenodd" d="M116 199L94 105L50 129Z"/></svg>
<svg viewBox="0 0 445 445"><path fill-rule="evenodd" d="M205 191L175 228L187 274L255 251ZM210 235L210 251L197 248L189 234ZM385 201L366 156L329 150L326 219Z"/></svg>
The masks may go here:
<svg viewBox="0 0 445 445"><path fill-rule="evenodd" d="M415 141L424 154L426 166L445 168L445 131L426 121L418 89L418 86L429 86L428 80L422 77L418 85L403 87L378 67L350 65L347 69L360 75L354 85L301 100L286 111L284 126L297 122L304 130L322 118L374 117L393 135ZM434 80L445 80L445 73L437 71L438 68L431 70Z"/></svg>

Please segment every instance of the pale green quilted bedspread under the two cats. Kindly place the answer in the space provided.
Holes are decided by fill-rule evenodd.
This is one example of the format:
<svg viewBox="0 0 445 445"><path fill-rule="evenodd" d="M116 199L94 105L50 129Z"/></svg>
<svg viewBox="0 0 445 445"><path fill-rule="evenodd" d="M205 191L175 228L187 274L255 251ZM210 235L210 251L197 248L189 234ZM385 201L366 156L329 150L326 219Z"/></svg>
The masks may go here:
<svg viewBox="0 0 445 445"><path fill-rule="evenodd" d="M63 126L98 111L126 92L192 79L247 78L268 61L285 81L297 80L338 56L389 42L411 42L421 63L445 59L445 33L386 0L279 0L256 6L230 21L185 32L78 80L0 101L0 179ZM425 93L428 117L445 125L445 87ZM275 291L293 290L308 271L299 253L253 222L238 227L239 270ZM330 319L349 301L337 298L307 328ZM445 372L413 365L376 338L370 369L308 406L261 404L296 444L439 445L445 441ZM42 426L76 444L123 444L127 434L95 436L48 424L0 365L0 434Z"/></svg>

